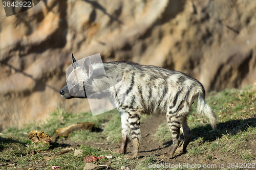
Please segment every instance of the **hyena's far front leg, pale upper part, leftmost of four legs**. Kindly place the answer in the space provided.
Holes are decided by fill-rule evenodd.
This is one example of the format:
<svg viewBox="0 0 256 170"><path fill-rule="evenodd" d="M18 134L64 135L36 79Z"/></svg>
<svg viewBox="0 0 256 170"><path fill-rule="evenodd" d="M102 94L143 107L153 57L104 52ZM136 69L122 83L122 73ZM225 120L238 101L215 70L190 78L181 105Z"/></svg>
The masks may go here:
<svg viewBox="0 0 256 170"><path fill-rule="evenodd" d="M121 130L122 142L121 142L120 148L115 149L114 153L125 154L126 148L127 148L127 143L129 141L128 136L130 134L130 123L128 121L129 113L127 113L127 112L120 113L120 116L121 116L121 123L122 123L122 130Z"/></svg>

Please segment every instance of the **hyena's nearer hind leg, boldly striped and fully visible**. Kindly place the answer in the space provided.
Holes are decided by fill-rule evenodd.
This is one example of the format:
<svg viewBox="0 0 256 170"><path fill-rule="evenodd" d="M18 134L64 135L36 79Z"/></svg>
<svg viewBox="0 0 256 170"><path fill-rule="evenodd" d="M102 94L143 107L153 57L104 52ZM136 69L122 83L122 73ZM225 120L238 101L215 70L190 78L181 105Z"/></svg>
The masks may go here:
<svg viewBox="0 0 256 170"><path fill-rule="evenodd" d="M180 120L176 116L170 115L171 111L167 113L167 120L168 120L168 125L170 132L173 135L173 145L172 148L170 148L170 151L167 154L163 154L160 157L161 158L172 158L176 149L178 148L180 144Z"/></svg>

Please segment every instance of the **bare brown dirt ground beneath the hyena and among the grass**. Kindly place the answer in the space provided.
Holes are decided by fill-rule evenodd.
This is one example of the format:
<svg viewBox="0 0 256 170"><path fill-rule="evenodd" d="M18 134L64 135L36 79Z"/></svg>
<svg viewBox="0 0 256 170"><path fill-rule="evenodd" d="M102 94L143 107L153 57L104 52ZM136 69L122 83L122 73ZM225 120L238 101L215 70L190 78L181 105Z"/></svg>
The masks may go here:
<svg viewBox="0 0 256 170"><path fill-rule="evenodd" d="M175 154L173 159L160 159L160 155L167 153L170 149L170 145L172 145L172 141L164 141L162 143L159 143L157 141L154 141L154 134L156 133L157 128L163 124L166 121L166 118L164 116L153 116L153 117L148 117L146 119L143 119L141 121L141 144L140 144L140 149L139 149L139 160L140 161L143 157L148 156L148 155L154 155L156 156L157 160L159 161L159 164L165 164L168 163L170 164L169 166L172 167L176 165L176 167L180 164L186 163L190 165L195 165L195 164L201 164L203 165L208 165L208 168L206 169L211 169L209 166L214 166L216 165L217 168L220 168L225 165L224 167L227 168L228 163L232 162L237 162L237 163L245 163L245 160L242 160L239 158L239 156L236 155L224 155L224 154L219 154L216 151L210 153L209 155L211 156L211 159L205 159L205 156L207 155L196 155L189 157L188 154L180 154L177 155ZM121 123L121 122L120 122ZM100 133L100 132L99 132ZM101 141L97 142L83 142L83 143L76 143L74 141L70 140L63 140L63 141L58 141L59 143L66 143L70 145L77 145L77 144L87 144L90 145L91 147L99 148L102 150L114 150L116 148L119 148L120 143L111 143L110 141L103 139ZM188 145L187 150L189 150L190 145ZM128 144L127 152L132 152L132 142Z"/></svg>

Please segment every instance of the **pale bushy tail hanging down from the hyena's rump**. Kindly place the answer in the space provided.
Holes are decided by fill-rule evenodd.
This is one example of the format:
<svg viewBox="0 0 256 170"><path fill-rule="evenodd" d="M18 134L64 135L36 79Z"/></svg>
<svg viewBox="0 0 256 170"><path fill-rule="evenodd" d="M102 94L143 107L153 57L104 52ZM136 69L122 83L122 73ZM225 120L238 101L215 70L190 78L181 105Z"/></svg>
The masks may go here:
<svg viewBox="0 0 256 170"><path fill-rule="evenodd" d="M198 113L205 114L209 120L210 125L213 129L216 129L217 124L217 117L214 113L214 111L211 110L210 106L208 106L204 100L204 92L199 89L198 91L198 104L197 104L197 111Z"/></svg>

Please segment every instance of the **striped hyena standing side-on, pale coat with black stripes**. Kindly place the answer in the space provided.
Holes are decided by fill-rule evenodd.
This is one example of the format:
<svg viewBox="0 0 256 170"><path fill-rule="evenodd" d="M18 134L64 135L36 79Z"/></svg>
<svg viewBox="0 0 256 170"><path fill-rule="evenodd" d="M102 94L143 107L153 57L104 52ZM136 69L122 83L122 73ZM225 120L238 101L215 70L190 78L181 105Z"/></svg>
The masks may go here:
<svg viewBox="0 0 256 170"><path fill-rule="evenodd" d="M67 79L67 83L73 84L73 94L84 91L84 84L92 91L101 91L101 84L108 81L108 74L117 72L122 75L125 83L125 91L117 89L111 93L114 105L121 116L121 135L122 141L116 153L126 153L127 142L131 134L133 141L133 151L127 154L126 158L138 158L140 143L140 117L141 114L165 114L170 132L173 135L173 145L167 154L161 157L172 158L181 141L180 130L184 134L184 142L178 148L178 153L184 153L190 141L192 133L187 126L186 118L189 114L191 105L198 100L197 111L204 113L208 118L212 128L216 127L216 115L205 103L205 90L203 85L194 78L185 75L182 72L169 70L150 65L139 65L131 61L116 61L103 63L107 79L92 80L92 76L98 71L99 65L92 64L87 57L80 67L74 57L73 71ZM71 95L67 85L60 91L63 98L71 99L77 96ZM125 98L122 103L116 98L117 93L125 92ZM86 92L87 93L87 92ZM87 98L88 94L80 96ZM94 94L97 98L97 93Z"/></svg>

